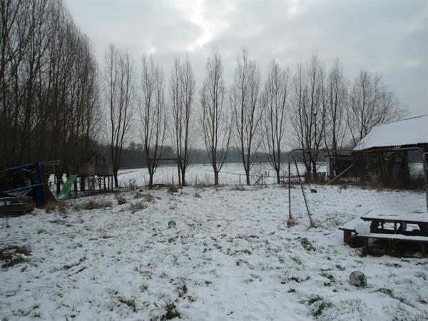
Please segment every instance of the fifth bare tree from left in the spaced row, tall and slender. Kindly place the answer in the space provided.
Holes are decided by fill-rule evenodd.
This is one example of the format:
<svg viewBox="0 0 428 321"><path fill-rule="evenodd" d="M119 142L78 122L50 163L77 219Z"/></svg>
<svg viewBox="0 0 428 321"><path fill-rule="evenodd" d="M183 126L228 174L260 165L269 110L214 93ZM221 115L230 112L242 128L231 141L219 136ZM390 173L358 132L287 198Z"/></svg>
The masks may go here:
<svg viewBox="0 0 428 321"><path fill-rule="evenodd" d="M260 71L243 48L238 54L235 81L230 86L230 105L235 123L235 143L240 149L247 185L250 185L250 170L261 143L257 135L262 115L259 91Z"/></svg>

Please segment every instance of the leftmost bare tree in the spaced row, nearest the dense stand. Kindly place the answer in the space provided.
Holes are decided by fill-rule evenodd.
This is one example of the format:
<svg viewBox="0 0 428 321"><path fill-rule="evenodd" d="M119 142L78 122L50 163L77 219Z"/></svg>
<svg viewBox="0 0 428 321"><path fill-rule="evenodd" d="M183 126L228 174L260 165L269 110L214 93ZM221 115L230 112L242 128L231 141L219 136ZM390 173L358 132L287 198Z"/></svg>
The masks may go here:
<svg viewBox="0 0 428 321"><path fill-rule="evenodd" d="M110 144L115 187L118 188L118 170L123 161L123 144L131 128L135 99L133 62L127 52L113 45L108 47L104 70L104 86L108 105L107 138Z"/></svg>

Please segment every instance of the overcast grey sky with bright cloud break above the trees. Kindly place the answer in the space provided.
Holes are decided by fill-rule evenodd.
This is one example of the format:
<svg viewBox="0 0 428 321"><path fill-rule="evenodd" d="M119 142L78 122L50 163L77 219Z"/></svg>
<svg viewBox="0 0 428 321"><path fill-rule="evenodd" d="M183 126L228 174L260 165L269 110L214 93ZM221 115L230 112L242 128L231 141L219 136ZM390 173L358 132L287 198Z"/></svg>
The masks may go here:
<svg viewBox="0 0 428 321"><path fill-rule="evenodd" d="M246 46L265 76L277 59L295 71L317 51L327 68L341 58L347 78L382 72L409 116L428 113L428 1L66 1L102 65L108 44L128 50L138 71L153 55L169 77L188 55L198 84L217 47L229 85Z"/></svg>

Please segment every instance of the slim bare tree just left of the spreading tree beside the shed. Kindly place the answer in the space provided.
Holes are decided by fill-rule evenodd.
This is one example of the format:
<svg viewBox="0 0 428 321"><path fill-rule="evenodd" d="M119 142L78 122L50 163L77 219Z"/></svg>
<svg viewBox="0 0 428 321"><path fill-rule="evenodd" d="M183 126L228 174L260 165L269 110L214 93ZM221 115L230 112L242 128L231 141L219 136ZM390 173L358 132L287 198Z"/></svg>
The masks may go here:
<svg viewBox="0 0 428 321"><path fill-rule="evenodd" d="M339 59L328 73L325 94L325 147L331 151L332 165L336 168L337 150L342 148L347 138L347 82Z"/></svg>

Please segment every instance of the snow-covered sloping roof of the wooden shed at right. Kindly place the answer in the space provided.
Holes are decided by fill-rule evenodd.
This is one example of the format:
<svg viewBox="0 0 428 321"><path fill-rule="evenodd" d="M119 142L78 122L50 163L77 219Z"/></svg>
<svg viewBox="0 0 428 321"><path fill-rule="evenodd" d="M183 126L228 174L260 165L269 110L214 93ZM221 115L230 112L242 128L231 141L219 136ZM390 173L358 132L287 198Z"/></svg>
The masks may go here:
<svg viewBox="0 0 428 321"><path fill-rule="evenodd" d="M374 126L357 143L354 151L376 147L409 146L427 143L428 115L424 115Z"/></svg>

